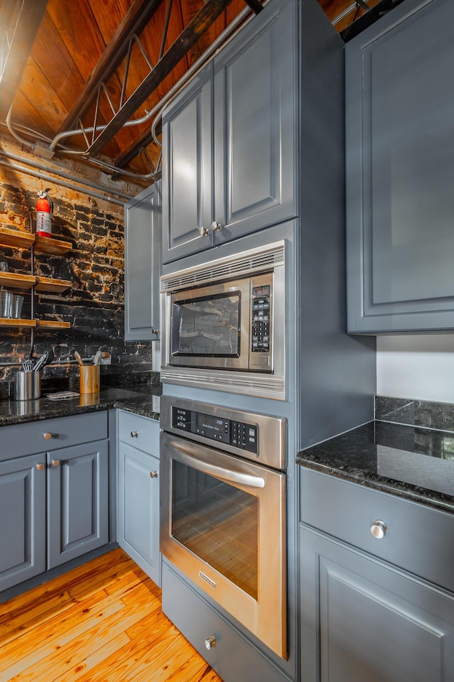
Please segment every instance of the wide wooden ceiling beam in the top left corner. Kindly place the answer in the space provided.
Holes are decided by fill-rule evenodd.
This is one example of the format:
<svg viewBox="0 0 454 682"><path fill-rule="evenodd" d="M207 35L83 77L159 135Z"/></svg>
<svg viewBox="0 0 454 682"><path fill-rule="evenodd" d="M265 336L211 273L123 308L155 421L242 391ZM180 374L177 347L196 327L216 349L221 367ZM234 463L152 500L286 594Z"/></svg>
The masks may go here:
<svg viewBox="0 0 454 682"><path fill-rule="evenodd" d="M0 120L4 121L21 82L48 0L4 1L0 27L4 32L0 72Z"/></svg>

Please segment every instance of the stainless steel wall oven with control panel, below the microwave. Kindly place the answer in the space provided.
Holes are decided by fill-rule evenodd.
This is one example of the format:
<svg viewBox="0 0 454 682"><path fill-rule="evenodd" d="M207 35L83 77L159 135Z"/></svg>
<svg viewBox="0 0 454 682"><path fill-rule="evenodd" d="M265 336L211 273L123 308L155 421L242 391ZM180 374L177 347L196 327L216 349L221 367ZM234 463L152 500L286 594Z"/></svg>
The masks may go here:
<svg viewBox="0 0 454 682"><path fill-rule="evenodd" d="M286 420L163 396L160 548L287 657Z"/></svg>

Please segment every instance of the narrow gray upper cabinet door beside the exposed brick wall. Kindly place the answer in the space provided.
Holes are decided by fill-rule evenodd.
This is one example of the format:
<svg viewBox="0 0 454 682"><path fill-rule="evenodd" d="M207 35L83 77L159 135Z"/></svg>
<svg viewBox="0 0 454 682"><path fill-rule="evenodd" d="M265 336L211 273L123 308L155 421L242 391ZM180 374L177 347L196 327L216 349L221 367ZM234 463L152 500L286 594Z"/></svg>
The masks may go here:
<svg viewBox="0 0 454 682"><path fill-rule="evenodd" d="M125 339L160 334L161 188L154 183L125 205Z"/></svg>

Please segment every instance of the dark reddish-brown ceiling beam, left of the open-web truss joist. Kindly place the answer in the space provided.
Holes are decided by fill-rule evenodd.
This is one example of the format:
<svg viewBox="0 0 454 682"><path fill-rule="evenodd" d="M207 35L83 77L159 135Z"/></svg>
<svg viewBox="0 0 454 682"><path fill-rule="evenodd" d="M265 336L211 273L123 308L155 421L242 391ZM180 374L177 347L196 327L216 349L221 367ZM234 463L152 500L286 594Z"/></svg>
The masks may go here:
<svg viewBox="0 0 454 682"><path fill-rule="evenodd" d="M118 26L114 37L107 45L106 50L96 64L92 75L84 85L82 92L74 102L67 118L60 126L59 132L70 130L74 127L77 119L82 119L96 99L99 85L106 82L114 75L118 65L128 53L129 41L135 33L138 36L149 23L152 16L164 0L134 0L128 13Z"/></svg>

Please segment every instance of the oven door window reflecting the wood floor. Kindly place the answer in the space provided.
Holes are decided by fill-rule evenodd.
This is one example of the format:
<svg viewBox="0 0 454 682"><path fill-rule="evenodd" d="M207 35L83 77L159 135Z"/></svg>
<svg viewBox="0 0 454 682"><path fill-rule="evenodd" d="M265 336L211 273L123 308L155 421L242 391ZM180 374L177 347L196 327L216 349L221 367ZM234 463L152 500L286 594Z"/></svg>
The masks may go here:
<svg viewBox="0 0 454 682"><path fill-rule="evenodd" d="M176 460L172 489L175 540L257 600L258 498Z"/></svg>

